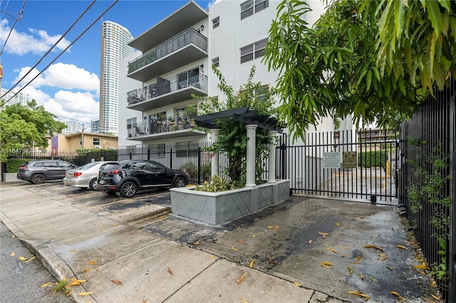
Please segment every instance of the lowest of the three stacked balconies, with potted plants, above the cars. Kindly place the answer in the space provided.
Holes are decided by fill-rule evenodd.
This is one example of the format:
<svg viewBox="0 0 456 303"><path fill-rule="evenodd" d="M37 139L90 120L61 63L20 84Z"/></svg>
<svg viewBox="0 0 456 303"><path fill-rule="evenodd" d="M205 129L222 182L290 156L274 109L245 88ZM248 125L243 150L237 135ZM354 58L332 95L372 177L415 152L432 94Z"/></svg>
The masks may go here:
<svg viewBox="0 0 456 303"><path fill-rule="evenodd" d="M150 141L188 136L201 136L204 132L194 130L195 122L183 115L135 123L127 126L128 139Z"/></svg>

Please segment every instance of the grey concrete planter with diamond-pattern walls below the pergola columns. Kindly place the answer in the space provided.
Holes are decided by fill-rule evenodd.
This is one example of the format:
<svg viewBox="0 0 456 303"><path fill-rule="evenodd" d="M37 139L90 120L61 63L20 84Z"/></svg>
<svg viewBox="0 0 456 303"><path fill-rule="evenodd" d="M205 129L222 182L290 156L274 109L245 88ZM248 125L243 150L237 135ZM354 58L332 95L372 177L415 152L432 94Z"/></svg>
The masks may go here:
<svg viewBox="0 0 456 303"><path fill-rule="evenodd" d="M289 180L217 193L193 189L170 189L172 213L211 225L253 213L290 196Z"/></svg>

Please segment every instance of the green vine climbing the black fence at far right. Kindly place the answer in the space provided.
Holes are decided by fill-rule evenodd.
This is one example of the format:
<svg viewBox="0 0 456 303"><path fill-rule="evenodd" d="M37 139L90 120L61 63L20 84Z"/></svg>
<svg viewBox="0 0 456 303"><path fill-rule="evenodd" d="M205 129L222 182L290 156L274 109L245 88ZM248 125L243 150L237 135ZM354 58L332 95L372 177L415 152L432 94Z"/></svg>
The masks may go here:
<svg viewBox="0 0 456 303"><path fill-rule="evenodd" d="M412 141L420 142L420 140ZM426 144L424 141L421 142ZM445 256L447 255L446 243L450 226L450 217L447 216L450 197L442 197L442 191L450 178L447 176L448 159L449 155L442 154L441 147L438 146L431 153L419 154L415 159L408 161L413 167L414 176L413 179L408 180L407 186L410 211L419 213L427 203L432 205L433 209L429 223L434 227L435 233L432 234L432 237L437 238L440 245L438 254L441 257L439 264L432 265L431 274L435 275L437 279L444 279L448 275Z"/></svg>

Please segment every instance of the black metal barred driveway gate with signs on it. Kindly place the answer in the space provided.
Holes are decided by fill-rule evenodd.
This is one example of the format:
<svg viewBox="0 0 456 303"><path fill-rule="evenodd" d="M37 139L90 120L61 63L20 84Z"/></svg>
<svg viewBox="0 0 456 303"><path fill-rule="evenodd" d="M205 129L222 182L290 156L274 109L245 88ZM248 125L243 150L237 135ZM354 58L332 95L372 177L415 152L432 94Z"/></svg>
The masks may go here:
<svg viewBox="0 0 456 303"><path fill-rule="evenodd" d="M395 132L309 133L303 144L284 135L277 149L278 178L290 180L291 194L397 203Z"/></svg>

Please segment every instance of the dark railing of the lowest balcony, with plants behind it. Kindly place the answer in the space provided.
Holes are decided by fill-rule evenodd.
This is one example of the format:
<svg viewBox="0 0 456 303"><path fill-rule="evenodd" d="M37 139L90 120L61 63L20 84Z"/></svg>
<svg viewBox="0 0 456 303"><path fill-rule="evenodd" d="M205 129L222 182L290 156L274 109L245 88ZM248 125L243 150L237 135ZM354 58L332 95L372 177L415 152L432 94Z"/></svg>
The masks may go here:
<svg viewBox="0 0 456 303"><path fill-rule="evenodd" d="M192 129L193 127L195 127L193 119L185 115L176 115L128 125L127 133L128 137L144 137L149 134L175 132L177 130Z"/></svg>

